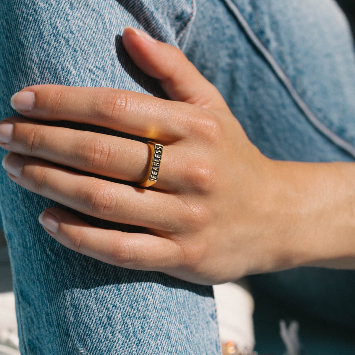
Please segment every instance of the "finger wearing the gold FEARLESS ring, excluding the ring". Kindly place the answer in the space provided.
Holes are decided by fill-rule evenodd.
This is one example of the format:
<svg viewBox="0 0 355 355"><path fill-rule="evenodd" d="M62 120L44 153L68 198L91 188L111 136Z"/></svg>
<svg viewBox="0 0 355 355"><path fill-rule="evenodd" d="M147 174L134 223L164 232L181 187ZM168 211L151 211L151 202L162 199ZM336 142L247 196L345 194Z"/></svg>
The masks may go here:
<svg viewBox="0 0 355 355"><path fill-rule="evenodd" d="M0 122L11 136L1 147L110 178L140 182L148 169L147 144L127 138L64 127L51 127L17 117ZM13 126L12 126L13 125ZM12 126L12 127L11 127ZM10 132L12 131L12 133ZM181 185L180 169L173 156L180 147L164 146L159 178L154 188L174 191ZM167 167L169 166L169 169Z"/></svg>

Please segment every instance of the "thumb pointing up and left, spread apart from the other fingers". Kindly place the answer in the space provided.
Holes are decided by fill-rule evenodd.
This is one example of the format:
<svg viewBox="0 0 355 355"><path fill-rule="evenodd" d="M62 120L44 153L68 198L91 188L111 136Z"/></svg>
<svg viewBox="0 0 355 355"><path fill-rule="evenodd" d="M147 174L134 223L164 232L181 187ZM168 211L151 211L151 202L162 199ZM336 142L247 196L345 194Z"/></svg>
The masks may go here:
<svg viewBox="0 0 355 355"><path fill-rule="evenodd" d="M144 73L158 79L170 99L204 108L226 108L217 88L180 49L133 27L124 28L122 42L133 62Z"/></svg>

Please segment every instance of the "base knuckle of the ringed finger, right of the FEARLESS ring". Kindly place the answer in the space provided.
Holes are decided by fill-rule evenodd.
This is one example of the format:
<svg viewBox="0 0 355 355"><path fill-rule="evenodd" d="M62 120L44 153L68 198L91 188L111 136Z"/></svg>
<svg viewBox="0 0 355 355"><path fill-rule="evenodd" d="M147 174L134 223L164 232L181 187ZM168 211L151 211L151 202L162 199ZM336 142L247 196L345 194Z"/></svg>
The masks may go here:
<svg viewBox="0 0 355 355"><path fill-rule="evenodd" d="M186 164L184 180L194 190L205 194L214 189L217 174L212 164L196 164L196 162L190 161Z"/></svg>

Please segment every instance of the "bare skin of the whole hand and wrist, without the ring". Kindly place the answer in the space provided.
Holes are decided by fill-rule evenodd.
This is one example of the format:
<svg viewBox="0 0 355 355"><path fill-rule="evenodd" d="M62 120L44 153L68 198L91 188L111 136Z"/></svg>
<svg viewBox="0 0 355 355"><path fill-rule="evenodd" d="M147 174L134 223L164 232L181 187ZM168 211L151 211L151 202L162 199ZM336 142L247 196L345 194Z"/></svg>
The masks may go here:
<svg viewBox="0 0 355 355"><path fill-rule="evenodd" d="M146 233L96 228L51 207L47 216L59 222L55 233L44 227L51 236L107 263L199 284L297 266L354 268L354 163L268 159L179 49L132 28L122 40L171 100L112 88L37 85L21 90L33 93L32 109L17 110L164 144L158 181L131 187L58 168L52 162L140 182L149 149L126 138L15 117L0 123L13 122L11 139L1 143L11 151L3 165L8 169L10 157L21 154L24 164L18 176L8 174L12 181L88 215L143 226ZM19 95L12 105L23 105Z"/></svg>

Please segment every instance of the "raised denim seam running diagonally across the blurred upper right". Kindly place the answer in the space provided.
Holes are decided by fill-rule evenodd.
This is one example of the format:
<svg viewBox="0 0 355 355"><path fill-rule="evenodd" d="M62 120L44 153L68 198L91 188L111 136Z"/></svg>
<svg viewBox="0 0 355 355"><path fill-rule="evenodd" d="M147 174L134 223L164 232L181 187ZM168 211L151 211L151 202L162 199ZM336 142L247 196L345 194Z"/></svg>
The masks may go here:
<svg viewBox="0 0 355 355"><path fill-rule="evenodd" d="M282 82L283 86L288 91L291 98L294 100L295 104L299 107L302 113L306 116L308 121L313 124L313 126L318 129L324 136L326 136L331 142L333 142L338 147L344 149L345 152L350 154L353 158L355 158L355 147L339 137L336 133L330 130L326 125L324 125L320 120L316 118L311 109L307 106L304 100L301 98L300 94L296 91L290 79L286 75L286 73L280 68L277 64L277 61L274 59L273 55L266 49L266 47L262 44L261 40L254 33L252 28L249 26L248 22L245 20L244 16L239 11L238 7L232 0L223 0L229 10L235 16L237 22L244 30L246 36L249 38L250 42L256 47L256 49L260 52L263 58L267 61L275 75Z"/></svg>

